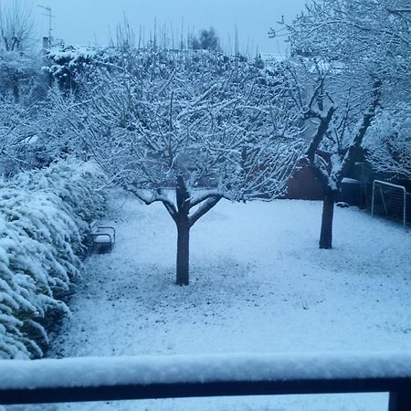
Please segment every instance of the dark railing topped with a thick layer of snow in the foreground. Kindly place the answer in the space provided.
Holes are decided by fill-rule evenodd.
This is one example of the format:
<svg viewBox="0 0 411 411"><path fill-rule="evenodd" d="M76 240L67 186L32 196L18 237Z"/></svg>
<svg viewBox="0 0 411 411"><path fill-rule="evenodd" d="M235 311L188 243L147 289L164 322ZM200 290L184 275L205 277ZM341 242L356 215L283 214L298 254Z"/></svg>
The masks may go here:
<svg viewBox="0 0 411 411"><path fill-rule="evenodd" d="M0 361L0 404L389 392L411 409L411 353L277 353Z"/></svg>

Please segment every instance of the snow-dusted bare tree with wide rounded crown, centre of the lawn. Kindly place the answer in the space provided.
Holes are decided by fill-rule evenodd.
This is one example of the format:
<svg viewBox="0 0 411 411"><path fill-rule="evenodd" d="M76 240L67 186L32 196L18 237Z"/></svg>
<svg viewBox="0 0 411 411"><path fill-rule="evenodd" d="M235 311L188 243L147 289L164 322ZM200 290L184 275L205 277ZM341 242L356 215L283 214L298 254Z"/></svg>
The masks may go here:
<svg viewBox="0 0 411 411"><path fill-rule="evenodd" d="M284 192L301 150L298 116L275 78L248 63L158 50L134 63L133 75L101 72L76 127L113 182L163 203L177 228L176 283L187 285L198 219L222 198Z"/></svg>

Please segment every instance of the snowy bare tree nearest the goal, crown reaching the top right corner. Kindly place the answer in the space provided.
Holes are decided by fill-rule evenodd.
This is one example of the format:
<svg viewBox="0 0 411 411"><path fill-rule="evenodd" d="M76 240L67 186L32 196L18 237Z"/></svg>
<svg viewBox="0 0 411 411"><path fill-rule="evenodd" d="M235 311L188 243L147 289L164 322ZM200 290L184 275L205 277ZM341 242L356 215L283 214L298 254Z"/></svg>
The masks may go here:
<svg viewBox="0 0 411 411"><path fill-rule="evenodd" d="M321 248L332 248L342 177L378 111L411 90L409 11L406 0L311 1L285 25L294 58L286 84L311 126L306 158L324 187Z"/></svg>

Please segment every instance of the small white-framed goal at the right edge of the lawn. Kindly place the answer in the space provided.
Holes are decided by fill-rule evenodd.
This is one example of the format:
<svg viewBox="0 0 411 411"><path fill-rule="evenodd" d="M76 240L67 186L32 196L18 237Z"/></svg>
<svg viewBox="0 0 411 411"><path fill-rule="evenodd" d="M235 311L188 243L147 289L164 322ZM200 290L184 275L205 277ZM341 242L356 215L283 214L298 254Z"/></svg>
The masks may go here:
<svg viewBox="0 0 411 411"><path fill-rule="evenodd" d="M374 180L371 216L377 214L400 219L406 227L406 187Z"/></svg>

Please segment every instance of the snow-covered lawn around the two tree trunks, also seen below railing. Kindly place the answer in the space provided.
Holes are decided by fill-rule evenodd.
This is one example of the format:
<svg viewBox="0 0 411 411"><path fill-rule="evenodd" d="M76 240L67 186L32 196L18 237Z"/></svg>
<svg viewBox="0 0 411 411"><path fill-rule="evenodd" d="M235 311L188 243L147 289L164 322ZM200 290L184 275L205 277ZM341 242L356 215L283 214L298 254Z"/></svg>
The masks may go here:
<svg viewBox="0 0 411 411"><path fill-rule="evenodd" d="M196 223L191 284L174 285L176 230L163 205L116 195L117 244L94 255L51 355L411 350L411 236L321 203L226 201ZM387 395L205 398L64 406L142 410L385 410ZM62 406L63 408L63 406Z"/></svg>

